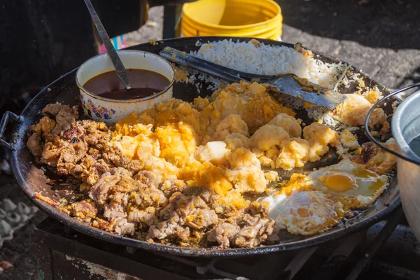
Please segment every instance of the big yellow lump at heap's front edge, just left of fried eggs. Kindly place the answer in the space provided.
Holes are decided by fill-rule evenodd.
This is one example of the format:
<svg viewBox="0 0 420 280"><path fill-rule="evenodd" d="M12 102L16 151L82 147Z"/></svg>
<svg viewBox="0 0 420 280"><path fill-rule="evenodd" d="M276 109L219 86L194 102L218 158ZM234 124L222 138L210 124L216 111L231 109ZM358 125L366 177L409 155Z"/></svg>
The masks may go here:
<svg viewBox="0 0 420 280"><path fill-rule="evenodd" d="M254 153L246 148L239 148L228 155L230 168L226 178L235 184L239 193L262 193L267 187L267 180Z"/></svg>

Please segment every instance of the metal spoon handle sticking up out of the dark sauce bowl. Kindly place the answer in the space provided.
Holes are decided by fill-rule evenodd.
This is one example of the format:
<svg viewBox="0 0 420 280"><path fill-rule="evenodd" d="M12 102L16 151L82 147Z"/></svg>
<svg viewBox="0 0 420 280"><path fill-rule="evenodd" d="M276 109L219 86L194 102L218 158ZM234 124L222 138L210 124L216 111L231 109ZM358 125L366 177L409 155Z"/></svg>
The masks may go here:
<svg viewBox="0 0 420 280"><path fill-rule="evenodd" d="M124 64L118 56L116 49L113 47L113 44L111 43L111 40L105 31L104 25L102 25L101 20L99 20L99 16L96 10L94 10L90 0L85 0L85 3L87 10L89 10L90 16L92 17L94 25L98 29L99 36L101 36L102 41L104 42L106 51L108 52L109 57L111 57L112 64L117 71L118 77L120 77L120 79L123 81L125 87L127 87L127 90L130 90L131 86L128 81L127 71L125 70Z"/></svg>

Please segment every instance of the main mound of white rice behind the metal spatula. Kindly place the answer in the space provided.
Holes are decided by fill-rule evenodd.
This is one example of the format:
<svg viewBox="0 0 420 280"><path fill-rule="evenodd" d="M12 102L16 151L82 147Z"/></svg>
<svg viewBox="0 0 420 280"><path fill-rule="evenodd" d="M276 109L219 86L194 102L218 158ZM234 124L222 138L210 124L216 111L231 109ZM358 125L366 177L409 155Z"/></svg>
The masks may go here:
<svg viewBox="0 0 420 280"><path fill-rule="evenodd" d="M345 64L325 64L314 57L303 55L294 48L264 43L255 46L251 41L235 43L232 40L223 40L203 43L200 50L192 54L246 73L263 75L294 73L330 89L334 87L337 78L346 68Z"/></svg>

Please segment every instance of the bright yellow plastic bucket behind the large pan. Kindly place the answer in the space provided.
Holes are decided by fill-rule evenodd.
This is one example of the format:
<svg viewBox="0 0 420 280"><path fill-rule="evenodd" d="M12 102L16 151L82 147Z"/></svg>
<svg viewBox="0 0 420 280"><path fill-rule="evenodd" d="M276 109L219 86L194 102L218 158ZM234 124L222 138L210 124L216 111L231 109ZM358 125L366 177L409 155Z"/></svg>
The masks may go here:
<svg viewBox="0 0 420 280"><path fill-rule="evenodd" d="M281 40L283 17L272 0L199 0L183 5L181 36Z"/></svg>

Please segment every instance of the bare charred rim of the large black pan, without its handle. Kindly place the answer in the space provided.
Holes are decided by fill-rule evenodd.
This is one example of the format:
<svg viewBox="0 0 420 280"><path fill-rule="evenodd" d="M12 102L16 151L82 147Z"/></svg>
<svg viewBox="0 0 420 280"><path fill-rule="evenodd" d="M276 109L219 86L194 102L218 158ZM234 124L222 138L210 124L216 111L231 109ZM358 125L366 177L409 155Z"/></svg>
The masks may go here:
<svg viewBox="0 0 420 280"><path fill-rule="evenodd" d="M223 39L230 39L237 41L250 41L252 38L242 38L242 37L188 37L188 38L172 38L167 40L158 41L156 45L151 45L149 43L144 43L141 45L136 45L131 47L130 49L137 49L137 50L146 50L149 52L159 53L162 48L165 46L171 46L172 48L183 48L186 51L197 49L195 43L197 40L202 42L207 41L217 41ZM293 48L293 44L290 43L283 43L278 41L272 41L267 39L260 39L257 38L258 41L261 41L265 44L269 45L284 45L289 48ZM314 54L318 59L322 59L323 62L328 63L338 63L339 60L335 57L330 57L329 55L323 55L321 52L313 51ZM360 71L353 67L355 71ZM394 211L400 208L401 202L398 192L398 186L396 182L396 178L393 178L390 185L388 186L387 190L384 194L381 195L379 200L374 203L369 210L370 213L363 212L356 218L353 218L346 223L342 223L337 225L332 230L327 232L314 235L311 237L305 237L303 240L298 241L286 241L282 244L270 245L270 246L261 246L261 247L254 247L254 248L230 248L230 249L213 249L213 248L181 248L178 246L168 246L162 244L151 244L146 241L139 241L137 239L131 239L127 237L120 237L118 235L112 235L109 232L105 232L103 230L97 230L90 225L77 221L75 218L71 218L66 214L62 213L61 211L51 207L50 205L46 204L45 202L41 202L35 199L34 190L32 190L31 186L29 186L29 169L22 168L22 163L20 162L22 159L19 158L19 151L22 151L26 148L25 139L26 133L28 130L28 126L34 123L36 120L38 113L41 111L43 106L48 103L55 102L57 97L63 99L63 102L74 103L74 97L78 94L78 87L75 83L75 75L77 69L66 73L66 75L62 76L61 78L55 80L50 85L45 87L41 92L39 92L34 99L29 102L25 110L22 112L22 118L18 120L14 129L13 129L13 138L12 141L15 141L15 150L10 151L10 162L13 169L13 174L15 174L15 178L20 184L22 190L25 191L25 194L34 202L38 207L40 207L46 214L52 216L60 223L64 225L68 225L70 228L77 230L78 232L82 232L85 235L90 235L92 237L102 239L104 241L108 241L111 243L120 244L123 246L129 246L134 248L142 248L148 251L155 251L161 253L169 253L173 255L184 255L184 256L193 256L193 257L204 257L204 258L212 258L212 257L239 257L239 256L247 256L247 255L258 255L258 254L266 254L266 253L274 253L279 251L290 251L300 248L307 248L311 246L316 246L318 244L325 243L327 241L331 241L334 239L338 239L340 237L344 237L345 235L349 235L351 232L355 232L362 228L366 228L369 225L380 221L381 219L385 218L389 214L392 214ZM376 80L368 76L367 74L363 73L363 76L368 80L371 80L372 83L376 84L379 87L379 90L384 92L384 94L388 93L389 90L377 83ZM52 90L51 90L52 89ZM53 92L56 93L54 94ZM71 94L69 94L71 93ZM60 100L61 100L60 99ZM37 178L32 179L30 183L36 183Z"/></svg>

